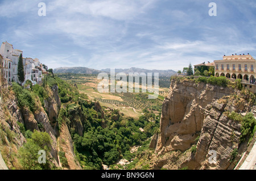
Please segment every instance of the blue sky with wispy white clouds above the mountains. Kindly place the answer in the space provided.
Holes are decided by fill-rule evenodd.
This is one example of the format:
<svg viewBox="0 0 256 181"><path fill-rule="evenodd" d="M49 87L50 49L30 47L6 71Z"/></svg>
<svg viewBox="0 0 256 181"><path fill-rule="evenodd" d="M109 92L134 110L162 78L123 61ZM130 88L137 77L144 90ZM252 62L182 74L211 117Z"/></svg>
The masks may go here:
<svg viewBox="0 0 256 181"><path fill-rule="evenodd" d="M1 0L0 10L0 41L52 69L177 71L224 54L256 58L255 0Z"/></svg>

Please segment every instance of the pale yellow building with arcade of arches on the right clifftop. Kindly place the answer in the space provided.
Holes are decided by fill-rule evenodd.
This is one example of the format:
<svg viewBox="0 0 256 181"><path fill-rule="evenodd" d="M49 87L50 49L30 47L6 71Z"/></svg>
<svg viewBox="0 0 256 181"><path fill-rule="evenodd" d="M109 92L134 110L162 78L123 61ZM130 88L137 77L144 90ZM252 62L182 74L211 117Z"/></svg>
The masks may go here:
<svg viewBox="0 0 256 181"><path fill-rule="evenodd" d="M256 92L256 61L250 54L223 56L223 60L214 61L215 77L224 76L232 81L242 79L242 85Z"/></svg>

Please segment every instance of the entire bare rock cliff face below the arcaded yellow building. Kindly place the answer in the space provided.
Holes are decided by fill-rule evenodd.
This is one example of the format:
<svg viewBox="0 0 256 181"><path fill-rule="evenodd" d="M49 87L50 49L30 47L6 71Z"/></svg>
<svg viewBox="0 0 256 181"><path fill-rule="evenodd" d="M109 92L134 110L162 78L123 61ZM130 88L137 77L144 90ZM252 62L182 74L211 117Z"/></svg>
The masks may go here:
<svg viewBox="0 0 256 181"><path fill-rule="evenodd" d="M243 98L237 103L232 94L240 93L230 88L173 79L170 93L163 102L160 132L152 137L150 145L158 155L153 169L233 169L232 151L238 149L240 155L246 144L239 142L241 124L228 119L226 112L249 112L251 105ZM213 153L216 154L214 161L217 160L214 163L209 162ZM174 160L176 165L170 163Z"/></svg>

